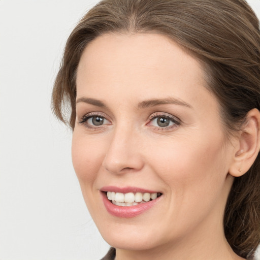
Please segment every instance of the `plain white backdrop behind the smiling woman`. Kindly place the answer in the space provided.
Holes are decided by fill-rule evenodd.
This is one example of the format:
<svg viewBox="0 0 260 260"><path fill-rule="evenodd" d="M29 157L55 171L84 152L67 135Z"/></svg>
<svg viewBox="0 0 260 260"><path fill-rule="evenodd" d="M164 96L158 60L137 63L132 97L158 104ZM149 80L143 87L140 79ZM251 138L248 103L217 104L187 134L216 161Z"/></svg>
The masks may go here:
<svg viewBox="0 0 260 260"><path fill-rule="evenodd" d="M97 0L0 0L0 260L98 260L71 161L50 109L66 39ZM249 4L260 17L260 0Z"/></svg>

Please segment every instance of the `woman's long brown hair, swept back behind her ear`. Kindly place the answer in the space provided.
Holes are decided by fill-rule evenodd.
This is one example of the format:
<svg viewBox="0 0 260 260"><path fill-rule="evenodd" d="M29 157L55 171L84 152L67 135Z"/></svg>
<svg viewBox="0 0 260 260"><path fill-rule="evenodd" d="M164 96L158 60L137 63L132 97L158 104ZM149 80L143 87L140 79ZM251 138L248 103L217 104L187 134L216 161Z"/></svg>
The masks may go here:
<svg viewBox="0 0 260 260"><path fill-rule="evenodd" d="M240 129L249 110L260 110L259 21L246 1L104 0L72 31L54 84L53 111L72 128L81 54L106 32L157 32L198 57L227 133ZM248 258L260 242L259 161L258 155L250 170L235 179L224 215L226 239L238 255Z"/></svg>

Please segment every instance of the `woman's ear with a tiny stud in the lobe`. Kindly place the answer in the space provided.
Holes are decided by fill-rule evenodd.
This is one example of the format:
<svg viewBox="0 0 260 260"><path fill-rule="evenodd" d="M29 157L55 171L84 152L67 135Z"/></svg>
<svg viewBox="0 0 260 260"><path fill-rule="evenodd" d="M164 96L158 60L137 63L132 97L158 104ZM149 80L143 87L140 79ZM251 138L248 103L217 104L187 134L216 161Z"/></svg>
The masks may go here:
<svg viewBox="0 0 260 260"><path fill-rule="evenodd" d="M247 113L246 122L236 139L233 162L229 174L240 177L256 159L260 148L260 112L254 108Z"/></svg>

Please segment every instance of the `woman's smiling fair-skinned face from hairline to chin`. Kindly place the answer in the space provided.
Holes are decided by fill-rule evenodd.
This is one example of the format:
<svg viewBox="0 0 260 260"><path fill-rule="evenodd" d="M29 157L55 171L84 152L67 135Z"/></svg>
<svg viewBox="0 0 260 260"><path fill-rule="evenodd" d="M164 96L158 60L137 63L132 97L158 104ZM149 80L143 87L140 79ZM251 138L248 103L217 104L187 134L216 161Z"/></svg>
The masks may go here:
<svg viewBox="0 0 260 260"><path fill-rule="evenodd" d="M234 147L197 59L158 34L96 38L79 63L76 111L73 165L110 245L222 235Z"/></svg>

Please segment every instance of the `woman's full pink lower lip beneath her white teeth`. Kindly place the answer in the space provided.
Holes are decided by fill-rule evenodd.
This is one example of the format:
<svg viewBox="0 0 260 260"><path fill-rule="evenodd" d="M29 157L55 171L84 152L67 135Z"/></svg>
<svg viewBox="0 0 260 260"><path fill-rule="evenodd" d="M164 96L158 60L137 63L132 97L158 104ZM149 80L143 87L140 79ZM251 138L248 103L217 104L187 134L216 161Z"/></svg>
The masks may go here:
<svg viewBox="0 0 260 260"><path fill-rule="evenodd" d="M102 197L103 197L103 203L107 211L111 215L116 217L122 217L122 218L131 218L131 217L136 217L144 213L151 207L153 207L158 202L161 196L155 200L146 203L141 203L136 206L125 206L125 207L114 205L111 201L108 200L107 194L105 192L102 192Z"/></svg>

